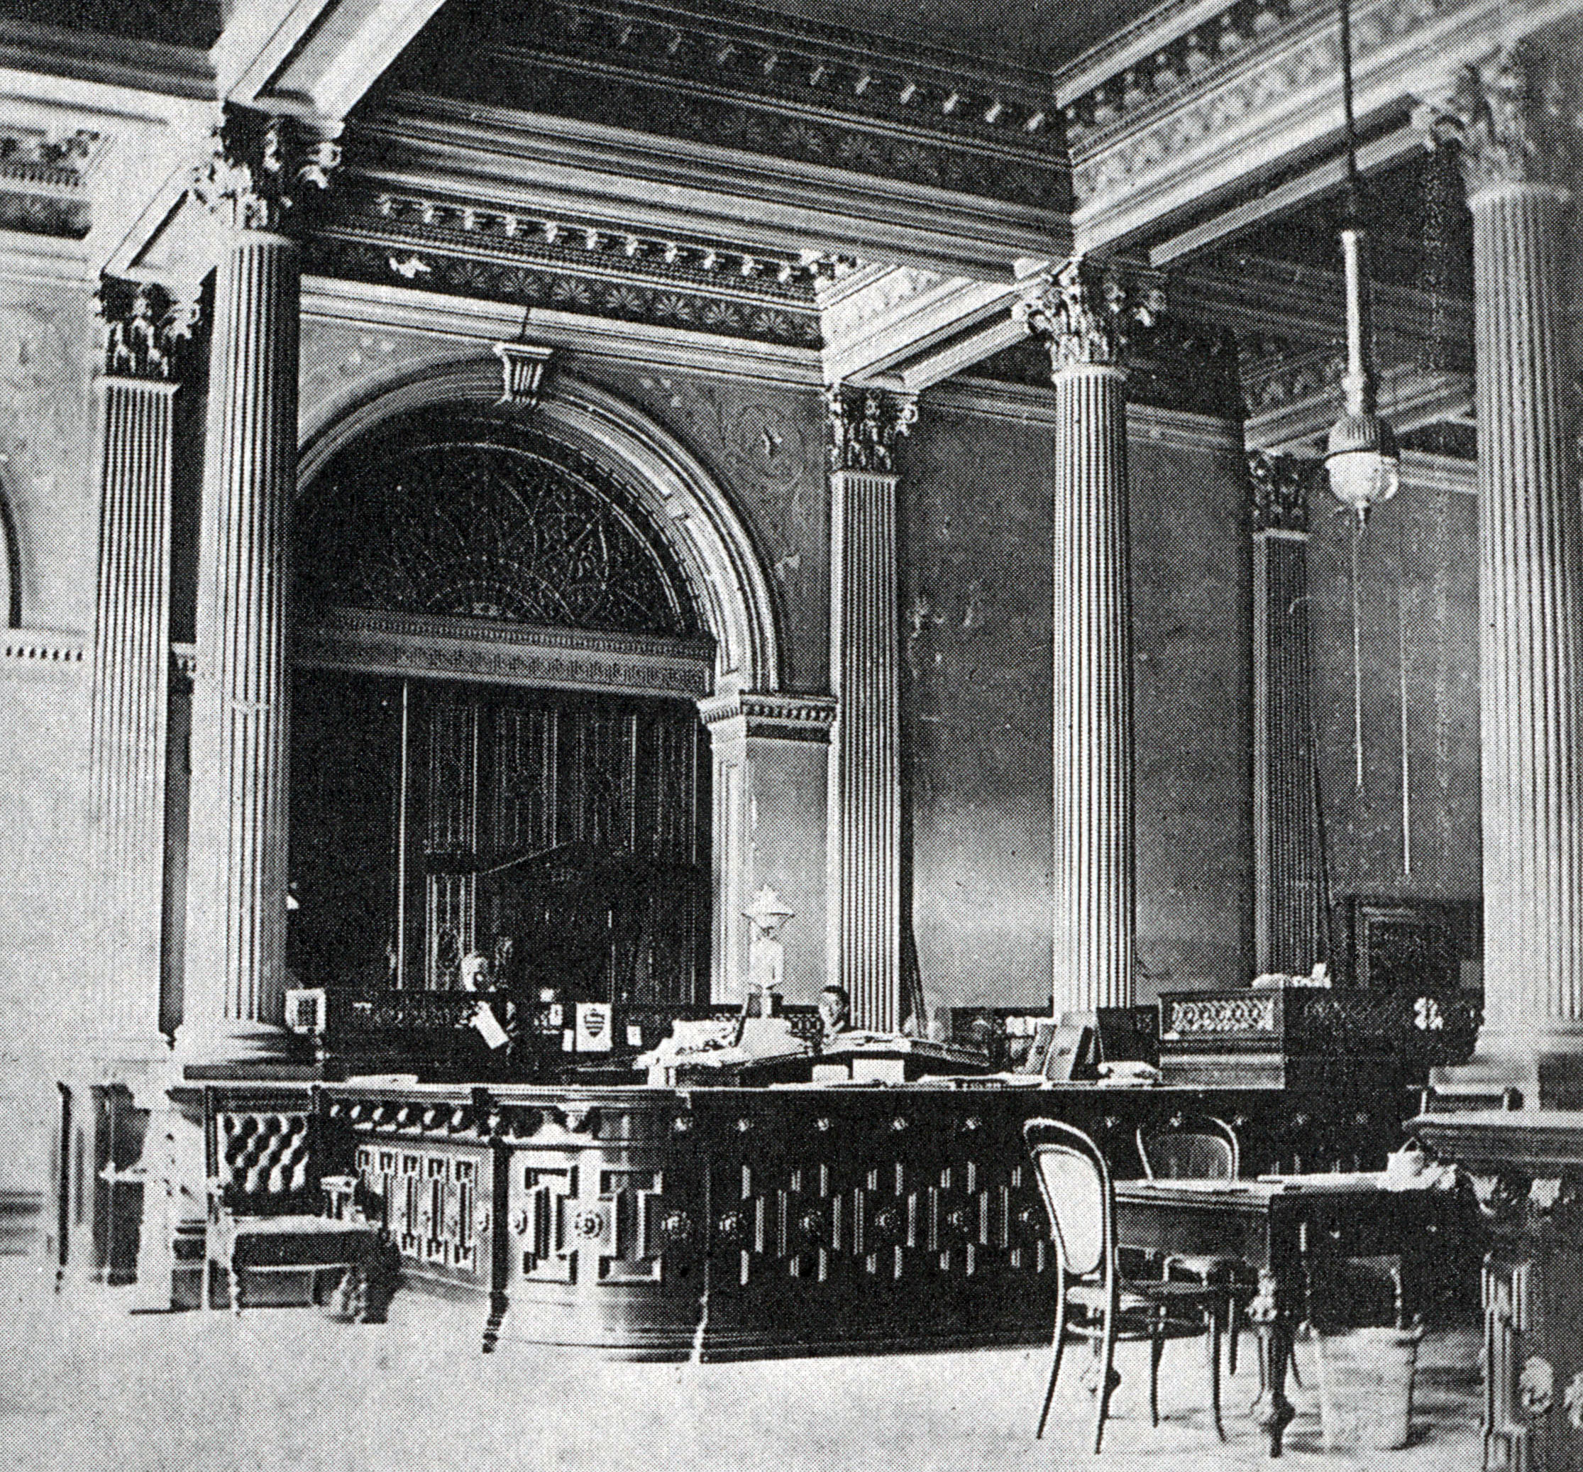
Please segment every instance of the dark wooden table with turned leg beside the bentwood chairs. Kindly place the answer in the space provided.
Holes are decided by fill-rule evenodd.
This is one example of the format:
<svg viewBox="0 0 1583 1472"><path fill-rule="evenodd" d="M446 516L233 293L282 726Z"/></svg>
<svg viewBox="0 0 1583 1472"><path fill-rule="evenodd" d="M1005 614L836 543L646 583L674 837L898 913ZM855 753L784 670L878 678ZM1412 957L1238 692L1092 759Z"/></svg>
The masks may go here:
<svg viewBox="0 0 1583 1472"><path fill-rule="evenodd" d="M1265 1181L1118 1181L1116 1235L1154 1252L1227 1254L1258 1273L1249 1317L1258 1330L1258 1398L1251 1415L1270 1455L1293 1410L1285 1396L1292 1334L1308 1317L1306 1287L1323 1257L1410 1257L1445 1200L1387 1190L1384 1173Z"/></svg>

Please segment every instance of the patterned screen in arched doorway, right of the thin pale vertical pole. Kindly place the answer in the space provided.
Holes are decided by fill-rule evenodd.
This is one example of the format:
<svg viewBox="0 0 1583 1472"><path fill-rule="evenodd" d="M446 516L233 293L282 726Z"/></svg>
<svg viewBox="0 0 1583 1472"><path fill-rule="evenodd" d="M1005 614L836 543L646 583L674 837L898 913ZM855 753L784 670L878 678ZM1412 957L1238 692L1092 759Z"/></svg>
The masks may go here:
<svg viewBox="0 0 1583 1472"><path fill-rule="evenodd" d="M682 703L426 689L405 907L421 984L459 984L476 951L514 988L692 1002L709 931L701 758Z"/></svg>

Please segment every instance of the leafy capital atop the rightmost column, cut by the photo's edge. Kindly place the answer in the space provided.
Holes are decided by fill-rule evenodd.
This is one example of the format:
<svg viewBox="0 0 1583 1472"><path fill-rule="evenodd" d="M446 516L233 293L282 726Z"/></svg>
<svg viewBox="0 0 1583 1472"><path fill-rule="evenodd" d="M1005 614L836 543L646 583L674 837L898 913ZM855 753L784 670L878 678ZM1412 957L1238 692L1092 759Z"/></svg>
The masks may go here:
<svg viewBox="0 0 1583 1472"><path fill-rule="evenodd" d="M1570 190L1583 163L1577 100L1564 68L1534 41L1517 41L1464 66L1452 97L1420 109L1434 144L1458 144L1467 195L1499 184Z"/></svg>

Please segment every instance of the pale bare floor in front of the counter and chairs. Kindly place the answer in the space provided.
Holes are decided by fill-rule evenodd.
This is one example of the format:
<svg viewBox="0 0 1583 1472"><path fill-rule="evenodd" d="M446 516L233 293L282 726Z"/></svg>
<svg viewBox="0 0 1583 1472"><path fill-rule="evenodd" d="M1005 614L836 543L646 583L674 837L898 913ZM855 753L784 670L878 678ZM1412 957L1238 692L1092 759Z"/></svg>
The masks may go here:
<svg viewBox="0 0 1583 1472"><path fill-rule="evenodd" d="M1091 1459L1089 1401L1064 1383L1032 1437L1046 1372L1037 1350L749 1364L609 1364L503 1344L478 1352L475 1304L397 1293L385 1325L312 1309L131 1314L130 1290L57 1295L36 1257L0 1258L0 1467L27 1472L472 1472L472 1469L1019 1469ZM1241 1415L1251 1364L1227 1394L1222 1447L1208 1428L1198 1344L1167 1349L1164 1425L1149 1428L1146 1350L1124 1345L1111 1472L1257 1467ZM1314 1345L1285 1466L1477 1472L1479 1342L1426 1337L1414 1440L1401 1451L1323 1453ZM1251 1360L1252 1356L1244 1356ZM1069 1377L1062 1377L1064 1382Z"/></svg>

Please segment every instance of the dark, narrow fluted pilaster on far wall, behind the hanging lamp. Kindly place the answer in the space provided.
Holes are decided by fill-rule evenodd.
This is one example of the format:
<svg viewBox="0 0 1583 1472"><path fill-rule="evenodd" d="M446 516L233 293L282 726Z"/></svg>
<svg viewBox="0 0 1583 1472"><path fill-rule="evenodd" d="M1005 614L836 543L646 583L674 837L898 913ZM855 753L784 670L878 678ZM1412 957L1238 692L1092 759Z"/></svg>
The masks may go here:
<svg viewBox="0 0 1583 1472"><path fill-rule="evenodd" d="M1251 454L1254 492L1254 966L1303 975L1323 954L1308 630L1312 461Z"/></svg>

